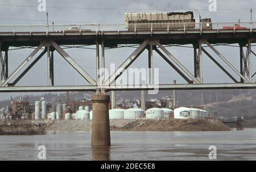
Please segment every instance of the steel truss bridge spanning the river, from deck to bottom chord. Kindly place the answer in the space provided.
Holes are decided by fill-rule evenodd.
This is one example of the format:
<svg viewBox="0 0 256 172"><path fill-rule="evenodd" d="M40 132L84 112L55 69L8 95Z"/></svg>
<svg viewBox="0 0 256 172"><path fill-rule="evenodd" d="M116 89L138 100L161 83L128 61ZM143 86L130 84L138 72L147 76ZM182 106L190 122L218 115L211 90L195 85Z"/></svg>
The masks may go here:
<svg viewBox="0 0 256 172"><path fill-rule="evenodd" d="M164 24L164 23L162 23ZM180 24L180 23L179 23ZM193 30L184 28L181 30L172 30L166 23L165 30L155 30L154 24L150 24L150 30L136 30L134 24L133 30L127 30L125 25L119 24L84 24L84 25L30 25L30 26L0 26L0 48L1 48L1 79L0 92L39 92L39 91L97 91L97 90L151 90L158 87L159 90L185 90L185 89L255 89L256 83L253 81L255 69L252 69L252 58L256 56L252 47L255 46L256 25L253 22L240 23L246 26L246 29L236 30L236 23L213 23L212 29L204 29L202 23L196 23ZM232 30L224 30L222 26L234 26ZM100 83L100 75L104 75L104 70L99 72L100 68L105 68L105 50L117 47L134 47L138 45L133 53L123 61L122 65L112 74L110 78L104 78ZM238 56L233 57L240 63L240 69L227 60L215 48L219 46L234 46L238 44ZM96 46L96 76L92 77L82 69L79 64L61 47L83 47ZM168 46L193 47L193 72L189 71L167 50ZM22 62L9 74L9 51L10 47L34 48ZM210 52L205 47L210 48ZM143 51L148 51L148 68L150 68L149 83L147 85L115 85L116 79L129 68L131 64L140 56ZM101 51L101 57L100 57ZM182 78L187 81L186 84L154 85L153 73L153 51L158 53L164 61L167 62ZM37 53L40 54L35 56ZM54 65L53 55L59 53L69 65L71 65L90 85L82 86L55 86L54 84ZM204 58L210 58L232 79L233 83L204 83L203 81L203 53ZM217 54L217 59L210 55ZM47 74L48 86L16 86L16 83L26 75L26 73L47 54ZM218 61L225 62L228 68L233 70L230 74L224 66ZM236 75L234 75L236 74ZM238 78L238 79L237 79Z"/></svg>

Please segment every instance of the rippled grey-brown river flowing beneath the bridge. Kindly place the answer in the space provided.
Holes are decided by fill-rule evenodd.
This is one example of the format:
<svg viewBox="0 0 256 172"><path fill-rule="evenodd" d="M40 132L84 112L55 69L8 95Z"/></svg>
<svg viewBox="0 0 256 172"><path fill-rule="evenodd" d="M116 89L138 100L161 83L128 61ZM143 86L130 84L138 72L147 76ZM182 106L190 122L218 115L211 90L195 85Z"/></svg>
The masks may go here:
<svg viewBox="0 0 256 172"><path fill-rule="evenodd" d="M256 160L256 129L225 132L111 132L112 146L91 148L90 132L0 136L0 160Z"/></svg>

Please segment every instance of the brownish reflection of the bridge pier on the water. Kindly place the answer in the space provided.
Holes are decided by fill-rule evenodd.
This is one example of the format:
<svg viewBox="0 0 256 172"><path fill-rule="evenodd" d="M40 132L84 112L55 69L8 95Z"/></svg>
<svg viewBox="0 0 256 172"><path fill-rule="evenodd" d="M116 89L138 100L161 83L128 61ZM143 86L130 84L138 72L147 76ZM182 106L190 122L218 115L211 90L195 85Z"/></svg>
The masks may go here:
<svg viewBox="0 0 256 172"><path fill-rule="evenodd" d="M110 146L92 146L92 158L94 161L109 161Z"/></svg>

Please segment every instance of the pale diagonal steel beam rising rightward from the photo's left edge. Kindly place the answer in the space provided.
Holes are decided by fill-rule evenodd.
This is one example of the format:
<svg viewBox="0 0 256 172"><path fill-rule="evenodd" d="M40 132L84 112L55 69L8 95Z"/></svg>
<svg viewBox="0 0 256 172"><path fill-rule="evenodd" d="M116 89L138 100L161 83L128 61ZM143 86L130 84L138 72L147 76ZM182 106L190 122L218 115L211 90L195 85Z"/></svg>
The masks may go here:
<svg viewBox="0 0 256 172"><path fill-rule="evenodd" d="M3 82L2 86L7 86L7 83L14 78L14 76L35 56L35 54L46 45L46 41L43 41L27 58L19 65L19 67L14 70L14 72L10 75L10 77L6 78L5 82Z"/></svg>

